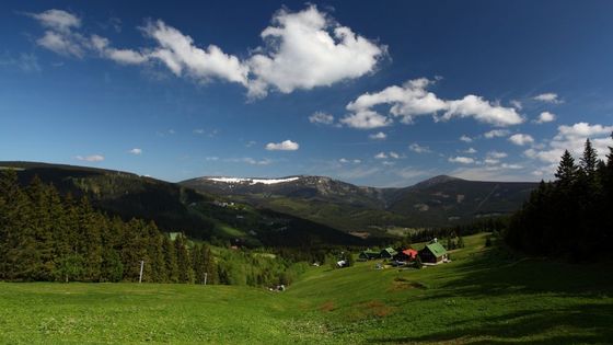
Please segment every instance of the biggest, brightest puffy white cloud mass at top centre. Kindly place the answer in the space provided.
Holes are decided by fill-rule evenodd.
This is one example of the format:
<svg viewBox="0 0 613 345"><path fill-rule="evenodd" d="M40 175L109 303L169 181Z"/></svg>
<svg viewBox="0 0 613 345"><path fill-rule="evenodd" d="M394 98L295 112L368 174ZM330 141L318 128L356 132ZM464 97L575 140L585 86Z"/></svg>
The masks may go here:
<svg viewBox="0 0 613 345"><path fill-rule="evenodd" d="M372 72L386 50L315 5L293 13L279 10L261 36L266 47L247 61L254 76L252 97L265 96L270 88L290 93L359 78Z"/></svg>

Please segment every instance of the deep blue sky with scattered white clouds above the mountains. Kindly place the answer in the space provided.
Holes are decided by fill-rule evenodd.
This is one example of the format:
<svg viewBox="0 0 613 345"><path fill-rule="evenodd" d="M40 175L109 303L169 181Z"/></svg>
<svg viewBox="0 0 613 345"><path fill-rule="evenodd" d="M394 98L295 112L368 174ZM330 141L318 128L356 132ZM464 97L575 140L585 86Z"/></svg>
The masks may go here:
<svg viewBox="0 0 613 345"><path fill-rule="evenodd" d="M0 160L405 186L613 145L609 1L0 7Z"/></svg>

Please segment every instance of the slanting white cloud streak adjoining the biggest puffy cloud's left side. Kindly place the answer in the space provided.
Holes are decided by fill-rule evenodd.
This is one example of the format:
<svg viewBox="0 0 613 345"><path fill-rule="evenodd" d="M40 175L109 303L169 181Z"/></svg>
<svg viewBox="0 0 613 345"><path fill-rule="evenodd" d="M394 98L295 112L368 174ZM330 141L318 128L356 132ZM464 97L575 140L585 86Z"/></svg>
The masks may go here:
<svg viewBox="0 0 613 345"><path fill-rule="evenodd" d="M163 21L150 22L142 31L158 43L149 56L162 61L175 76L185 74L199 81L218 78L247 84L248 67L218 46L199 48L190 36Z"/></svg>

